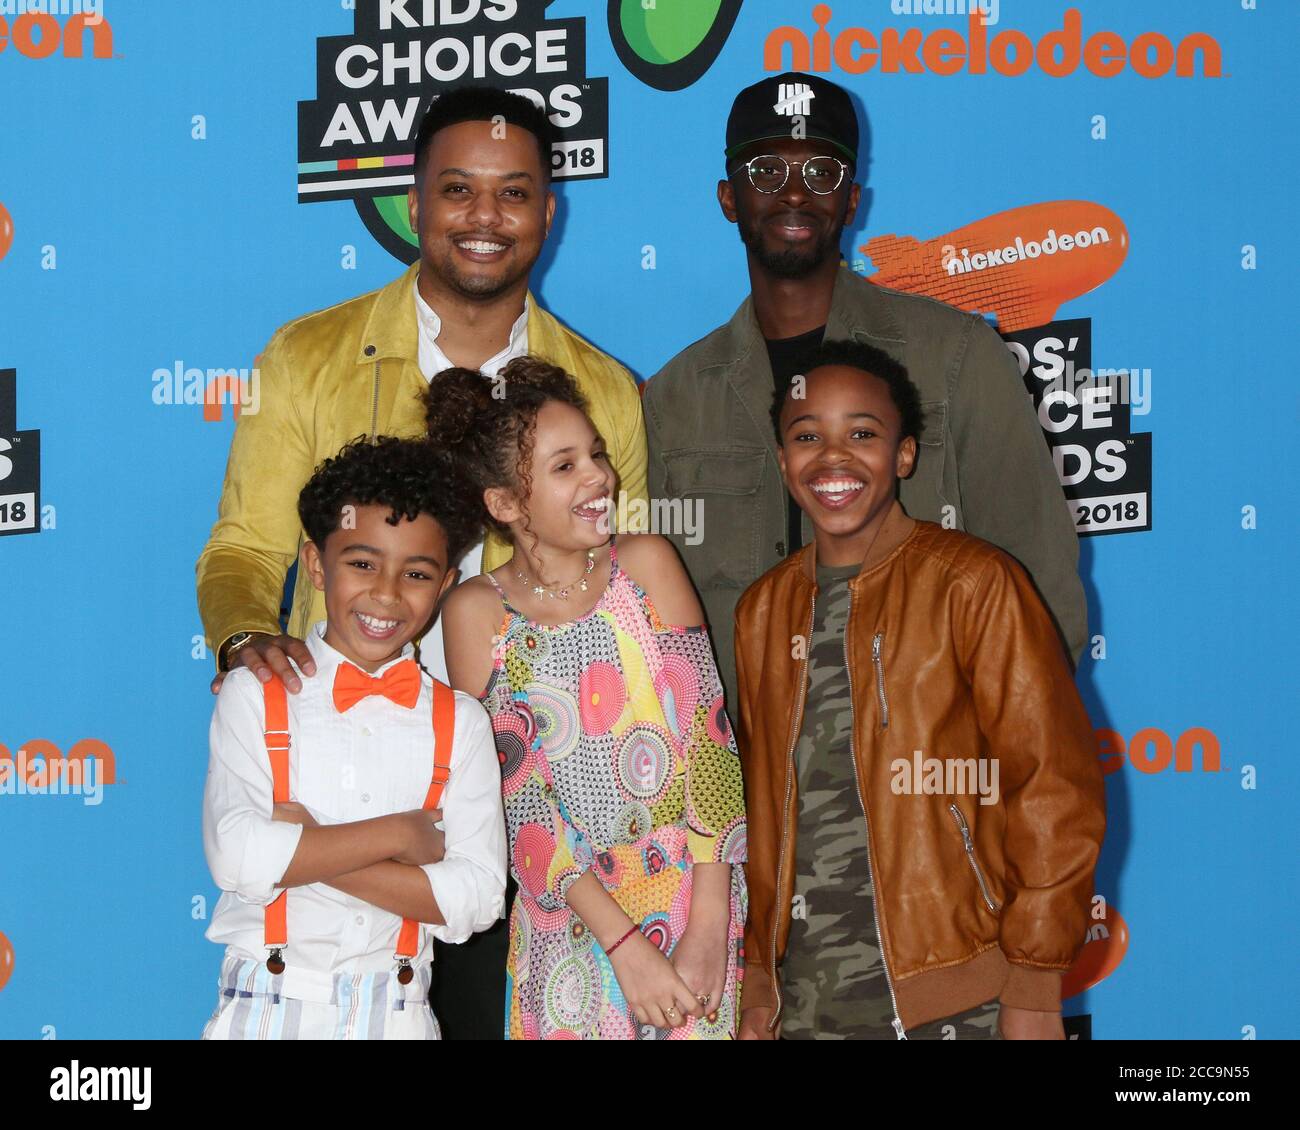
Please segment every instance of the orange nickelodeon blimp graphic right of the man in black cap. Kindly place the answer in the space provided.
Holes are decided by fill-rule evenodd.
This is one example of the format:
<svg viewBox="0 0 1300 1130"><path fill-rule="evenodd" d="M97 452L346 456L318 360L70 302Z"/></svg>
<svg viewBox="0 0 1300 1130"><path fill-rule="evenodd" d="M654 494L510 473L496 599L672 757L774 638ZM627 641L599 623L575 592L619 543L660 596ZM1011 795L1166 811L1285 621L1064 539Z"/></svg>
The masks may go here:
<svg viewBox="0 0 1300 1130"><path fill-rule="evenodd" d="M926 294L982 315L1002 333L1045 325L1096 290L1128 255L1128 229L1089 200L1027 204L919 241L876 235L859 248L881 286Z"/></svg>

